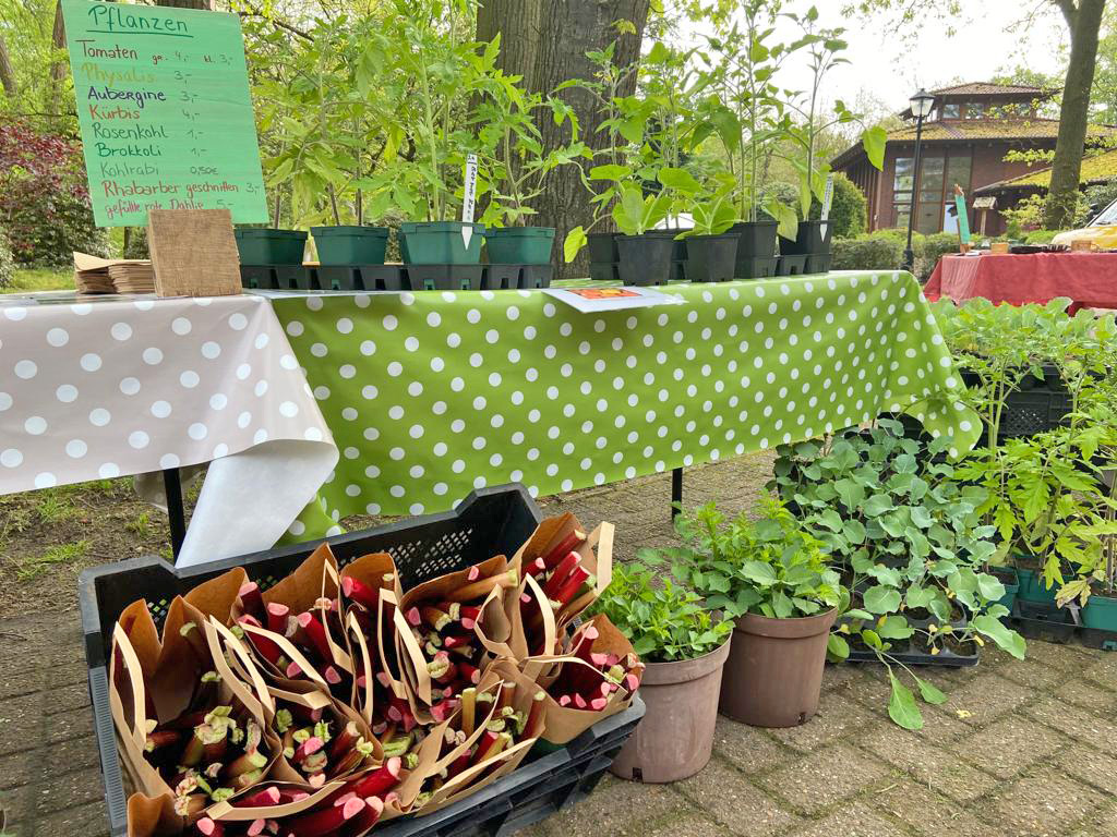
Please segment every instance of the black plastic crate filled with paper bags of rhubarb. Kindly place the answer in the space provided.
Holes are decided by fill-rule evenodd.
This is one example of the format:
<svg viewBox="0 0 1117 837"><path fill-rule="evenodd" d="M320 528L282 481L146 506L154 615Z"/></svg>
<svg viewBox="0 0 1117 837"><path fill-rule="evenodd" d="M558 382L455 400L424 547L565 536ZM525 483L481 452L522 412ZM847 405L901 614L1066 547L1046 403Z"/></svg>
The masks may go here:
<svg viewBox="0 0 1117 837"><path fill-rule="evenodd" d="M85 634L86 662L89 668L89 694L93 702L94 727L101 751L105 782L105 800L113 837L127 833L126 796L116 754L116 740L112 713L108 708L108 677L105 661L112 648L112 632L117 617L137 598L145 598L156 624L166 615L171 600L197 585L214 578L232 567L244 567L261 587L270 587L293 571L314 549L328 542L338 562L349 561L374 551L386 551L395 559L404 588L455 571L494 555L512 556L535 531L542 516L527 490L519 484L494 487L475 491L456 511L411 518L359 532L346 532L324 540L280 547L262 552L228 558L197 567L175 569L162 558L147 556L104 567L85 570L78 580L82 627ZM566 747L541 757L494 782L481 792L455 804L446 811L475 811L485 814L486 821L499 820L497 828L510 818L527 825L527 808L513 805L515 793L527 795L528 786L546 782L542 792L532 799L532 810L542 819L552 810L588 792L609 766L612 757L631 734L640 716L642 704L605 719ZM563 788L550 778L553 771L567 767L574 773ZM526 772L525 772L526 771ZM544 799L545 797L545 799ZM562 797L561 799L558 797ZM525 797L526 798L526 797ZM481 807L491 805L491 809ZM381 834L496 834L469 831L465 821L454 821L438 811L430 817L400 820L378 829ZM487 811L487 812L486 812ZM457 816L457 815L455 815ZM533 815L534 816L534 815ZM474 814L469 815L470 818ZM483 817L481 819L485 819ZM535 820L533 820L535 821ZM411 830L394 831L404 824ZM429 824L442 824L437 828ZM430 828L430 830L427 830ZM439 830L441 829L441 830ZM466 829L466 830L462 830ZM507 833L507 831L504 831Z"/></svg>

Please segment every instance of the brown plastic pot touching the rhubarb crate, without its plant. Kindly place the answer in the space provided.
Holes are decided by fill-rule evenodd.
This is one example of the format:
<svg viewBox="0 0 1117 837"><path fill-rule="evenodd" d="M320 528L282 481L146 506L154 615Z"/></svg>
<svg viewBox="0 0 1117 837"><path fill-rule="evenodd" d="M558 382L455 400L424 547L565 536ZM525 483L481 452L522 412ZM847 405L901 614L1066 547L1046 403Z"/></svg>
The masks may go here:
<svg viewBox="0 0 1117 837"><path fill-rule="evenodd" d="M640 698L648 709L613 761L614 776L674 782L706 767L729 644L726 639L717 651L694 660L648 663L640 682Z"/></svg>

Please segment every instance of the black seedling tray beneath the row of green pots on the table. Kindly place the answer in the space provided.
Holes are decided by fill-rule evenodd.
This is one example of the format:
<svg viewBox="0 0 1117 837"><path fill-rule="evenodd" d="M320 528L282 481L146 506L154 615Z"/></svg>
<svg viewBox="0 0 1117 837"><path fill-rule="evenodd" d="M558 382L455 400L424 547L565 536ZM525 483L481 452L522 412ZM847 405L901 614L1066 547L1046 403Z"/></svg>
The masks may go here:
<svg viewBox="0 0 1117 837"><path fill-rule="evenodd" d="M553 264L241 264L245 288L270 290L502 290L547 288Z"/></svg>

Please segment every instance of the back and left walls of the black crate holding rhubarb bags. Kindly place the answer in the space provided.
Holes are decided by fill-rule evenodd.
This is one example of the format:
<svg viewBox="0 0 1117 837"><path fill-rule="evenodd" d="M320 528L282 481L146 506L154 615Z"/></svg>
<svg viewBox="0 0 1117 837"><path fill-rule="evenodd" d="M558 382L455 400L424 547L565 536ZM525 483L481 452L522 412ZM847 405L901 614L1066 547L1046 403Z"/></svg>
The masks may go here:
<svg viewBox="0 0 1117 837"><path fill-rule="evenodd" d="M523 485L513 484L475 491L456 511L428 514L365 531L346 532L324 540L279 547L197 567L175 569L162 558L145 556L83 571L78 579L78 600L89 668L94 725L113 837L126 834L127 817L123 776L108 708L105 661L112 648L113 626L130 604L139 598L147 599L152 616L160 624L171 600L199 584L233 567L244 567L252 580L267 588L292 573L323 542L330 543L343 566L369 552L390 552L395 559L403 587L413 587L494 555L512 556L535 531L541 519L540 510L527 490Z"/></svg>

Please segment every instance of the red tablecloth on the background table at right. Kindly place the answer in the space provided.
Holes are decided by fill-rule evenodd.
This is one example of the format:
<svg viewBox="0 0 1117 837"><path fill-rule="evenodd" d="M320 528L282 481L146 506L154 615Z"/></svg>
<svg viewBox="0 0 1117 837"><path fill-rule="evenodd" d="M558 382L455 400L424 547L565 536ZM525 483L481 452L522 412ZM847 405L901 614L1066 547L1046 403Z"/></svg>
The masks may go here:
<svg viewBox="0 0 1117 837"><path fill-rule="evenodd" d="M1117 253L944 256L924 294L962 302L1048 302L1069 297L1073 308L1117 308Z"/></svg>

